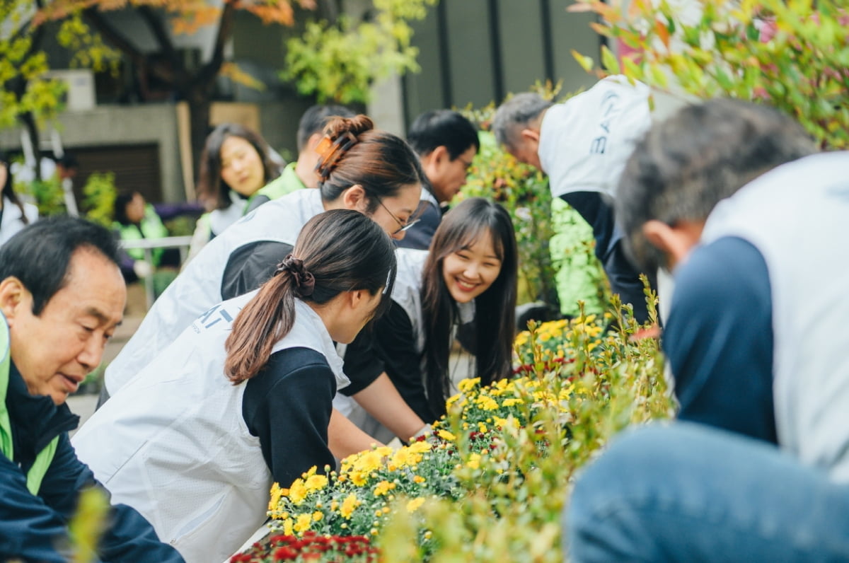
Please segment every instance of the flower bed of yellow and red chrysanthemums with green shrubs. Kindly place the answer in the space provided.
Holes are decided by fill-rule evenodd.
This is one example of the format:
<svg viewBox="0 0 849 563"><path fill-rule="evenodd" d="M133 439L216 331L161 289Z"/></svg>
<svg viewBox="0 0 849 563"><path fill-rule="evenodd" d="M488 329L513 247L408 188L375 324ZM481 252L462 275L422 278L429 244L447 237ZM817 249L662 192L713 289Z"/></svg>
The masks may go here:
<svg viewBox="0 0 849 563"><path fill-rule="evenodd" d="M533 325L517 339L519 375L489 387L464 380L430 436L275 486L275 538L362 538L393 562L561 561L574 472L627 425L672 414L657 341L634 339L633 321L607 323ZM273 560L278 547L256 545L238 561ZM356 556L321 560L368 560Z"/></svg>

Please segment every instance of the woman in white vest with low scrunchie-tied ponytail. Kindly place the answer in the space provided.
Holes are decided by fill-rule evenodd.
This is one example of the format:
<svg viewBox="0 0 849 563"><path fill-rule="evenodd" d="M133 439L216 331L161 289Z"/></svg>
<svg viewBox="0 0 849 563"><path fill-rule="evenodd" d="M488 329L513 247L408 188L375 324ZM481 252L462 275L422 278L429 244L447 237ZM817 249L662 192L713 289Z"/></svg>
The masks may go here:
<svg viewBox="0 0 849 563"><path fill-rule="evenodd" d="M266 519L273 481L333 465L334 342L389 304L391 239L355 211L306 223L259 290L216 304L74 436L80 459L189 563L225 560Z"/></svg>

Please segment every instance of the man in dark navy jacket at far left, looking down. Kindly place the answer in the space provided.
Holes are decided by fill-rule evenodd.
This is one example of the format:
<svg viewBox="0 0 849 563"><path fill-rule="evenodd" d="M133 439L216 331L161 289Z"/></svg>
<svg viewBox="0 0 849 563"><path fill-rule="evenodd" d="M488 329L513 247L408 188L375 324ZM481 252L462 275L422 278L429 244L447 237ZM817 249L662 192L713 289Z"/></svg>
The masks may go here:
<svg viewBox="0 0 849 563"><path fill-rule="evenodd" d="M99 487L76 459L65 404L100 363L126 289L104 228L62 217L0 248L0 560L66 561L82 490ZM142 515L110 508L103 561L183 561Z"/></svg>

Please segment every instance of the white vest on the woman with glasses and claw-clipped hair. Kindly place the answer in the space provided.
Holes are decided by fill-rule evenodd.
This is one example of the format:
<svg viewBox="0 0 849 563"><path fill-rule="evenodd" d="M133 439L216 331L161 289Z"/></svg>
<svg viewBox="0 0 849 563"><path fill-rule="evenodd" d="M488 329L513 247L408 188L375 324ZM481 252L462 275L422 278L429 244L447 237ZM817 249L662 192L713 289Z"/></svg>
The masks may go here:
<svg viewBox="0 0 849 563"><path fill-rule="evenodd" d="M106 368L105 384L110 395L202 312L222 301L222 276L233 251L260 240L294 246L304 224L323 211L318 189L301 189L257 207L205 245L150 307L136 333Z"/></svg>

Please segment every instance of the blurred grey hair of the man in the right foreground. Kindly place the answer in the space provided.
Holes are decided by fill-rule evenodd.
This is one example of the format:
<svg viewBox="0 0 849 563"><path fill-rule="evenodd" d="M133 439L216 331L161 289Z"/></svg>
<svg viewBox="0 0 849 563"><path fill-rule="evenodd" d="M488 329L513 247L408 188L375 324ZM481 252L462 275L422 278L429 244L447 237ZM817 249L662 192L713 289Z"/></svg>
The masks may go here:
<svg viewBox="0 0 849 563"><path fill-rule="evenodd" d="M643 234L657 220L704 222L720 200L763 173L817 152L788 115L762 104L712 99L655 124L627 160L616 192L626 248L643 272L665 260Z"/></svg>

